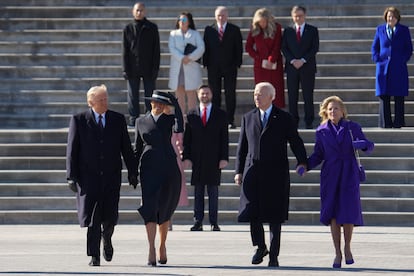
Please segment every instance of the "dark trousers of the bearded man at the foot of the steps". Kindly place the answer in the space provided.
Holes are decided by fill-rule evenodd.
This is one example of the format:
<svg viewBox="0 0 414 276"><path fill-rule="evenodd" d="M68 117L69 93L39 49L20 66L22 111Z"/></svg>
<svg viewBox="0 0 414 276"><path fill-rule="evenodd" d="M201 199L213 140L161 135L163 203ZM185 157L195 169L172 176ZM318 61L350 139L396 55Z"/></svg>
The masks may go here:
<svg viewBox="0 0 414 276"><path fill-rule="evenodd" d="M208 194L208 215L210 224L217 224L218 186L206 185ZM194 220L203 222L204 219L204 185L194 186Z"/></svg>

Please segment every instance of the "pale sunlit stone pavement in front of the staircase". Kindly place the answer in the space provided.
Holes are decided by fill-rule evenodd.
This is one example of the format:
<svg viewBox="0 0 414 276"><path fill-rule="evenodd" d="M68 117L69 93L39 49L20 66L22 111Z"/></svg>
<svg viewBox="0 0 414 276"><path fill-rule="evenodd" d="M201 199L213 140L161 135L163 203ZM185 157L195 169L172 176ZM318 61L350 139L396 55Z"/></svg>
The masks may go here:
<svg viewBox="0 0 414 276"><path fill-rule="evenodd" d="M174 225L167 241L168 263L146 266L148 247L142 223L118 225L114 258L89 267L86 229L77 225L0 225L0 275L413 275L412 227L355 228L353 265L331 268L334 250L329 227L282 227L280 267L268 258L252 265L254 248L245 224L221 232L190 232ZM268 238L268 235L267 235Z"/></svg>

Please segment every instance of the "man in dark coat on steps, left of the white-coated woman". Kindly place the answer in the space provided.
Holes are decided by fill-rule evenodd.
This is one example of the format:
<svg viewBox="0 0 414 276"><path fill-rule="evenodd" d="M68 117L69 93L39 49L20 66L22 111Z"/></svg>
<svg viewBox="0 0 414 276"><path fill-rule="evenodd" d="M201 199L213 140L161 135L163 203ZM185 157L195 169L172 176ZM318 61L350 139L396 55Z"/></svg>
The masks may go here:
<svg viewBox="0 0 414 276"><path fill-rule="evenodd" d="M155 90L155 81L160 68L160 36L158 27L145 17L145 5L136 3L132 9L134 22L129 23L123 31L123 75L128 81L129 123L135 127L139 117L140 79L144 83L145 97L151 97ZM148 100L146 111L151 110Z"/></svg>

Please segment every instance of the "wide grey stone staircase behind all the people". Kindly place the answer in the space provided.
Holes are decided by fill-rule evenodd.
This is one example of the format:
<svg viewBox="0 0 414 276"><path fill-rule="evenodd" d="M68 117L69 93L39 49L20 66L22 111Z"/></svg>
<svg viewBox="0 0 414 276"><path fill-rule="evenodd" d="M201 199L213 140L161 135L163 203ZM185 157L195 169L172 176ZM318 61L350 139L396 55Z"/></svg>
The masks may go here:
<svg viewBox="0 0 414 276"><path fill-rule="evenodd" d="M126 83L121 78L122 28L130 20L130 1L3 0L0 3L0 222L76 223L75 197L65 182L65 147L70 115L86 108L85 93L105 83L111 108L127 113ZM229 7L230 20L247 37L254 11L267 6L277 20L291 23L291 1L148 1L148 17L161 37L161 70L157 88L166 90L168 34L176 16L191 11L200 31L213 22L218 4ZM334 2L334 4L332 3ZM329 95L340 96L350 117L358 121L376 149L362 156L367 182L361 186L364 217L370 225L414 225L414 58L410 61L411 95L406 103L410 127L377 128L374 96L375 65L370 45L382 23L387 1L307 1L308 22L318 26L320 52L315 105ZM336 4L338 3L338 4ZM336 5L335 5L336 4ZM414 26L414 4L397 1L402 23ZM252 60L244 54L238 78L237 120L252 107ZM206 77L206 76L204 76ZM301 103L300 103L301 104ZM316 108L317 109L317 108ZM308 153L313 130L300 130ZM131 138L133 133L131 131ZM236 222L239 188L233 183L238 130L230 131L231 162L223 172L220 214L223 224ZM319 223L319 171L299 178L291 159L291 224ZM189 180L190 172L186 172ZM190 206L180 207L176 223L192 222ZM121 223L135 223L139 189L123 179Z"/></svg>

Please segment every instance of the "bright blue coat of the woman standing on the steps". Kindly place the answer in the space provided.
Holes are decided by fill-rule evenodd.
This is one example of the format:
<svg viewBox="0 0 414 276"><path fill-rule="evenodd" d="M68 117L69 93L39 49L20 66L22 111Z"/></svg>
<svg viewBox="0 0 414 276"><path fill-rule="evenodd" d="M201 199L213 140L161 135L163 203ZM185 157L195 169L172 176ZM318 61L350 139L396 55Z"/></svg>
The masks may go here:
<svg viewBox="0 0 414 276"><path fill-rule="evenodd" d="M396 24L390 40L386 24L378 26L371 53L376 63L375 96L408 96L407 62L413 54L410 29Z"/></svg>

